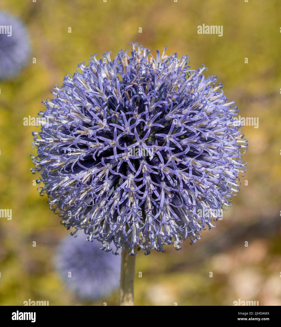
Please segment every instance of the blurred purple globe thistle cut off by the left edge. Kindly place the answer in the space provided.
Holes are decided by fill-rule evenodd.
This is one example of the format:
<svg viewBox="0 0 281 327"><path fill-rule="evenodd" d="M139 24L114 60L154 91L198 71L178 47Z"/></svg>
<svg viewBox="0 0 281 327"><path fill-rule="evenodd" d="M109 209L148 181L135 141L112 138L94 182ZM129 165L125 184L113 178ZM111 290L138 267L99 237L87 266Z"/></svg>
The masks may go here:
<svg viewBox="0 0 281 327"><path fill-rule="evenodd" d="M19 73L27 64L30 41L26 28L16 17L0 11L0 80Z"/></svg>

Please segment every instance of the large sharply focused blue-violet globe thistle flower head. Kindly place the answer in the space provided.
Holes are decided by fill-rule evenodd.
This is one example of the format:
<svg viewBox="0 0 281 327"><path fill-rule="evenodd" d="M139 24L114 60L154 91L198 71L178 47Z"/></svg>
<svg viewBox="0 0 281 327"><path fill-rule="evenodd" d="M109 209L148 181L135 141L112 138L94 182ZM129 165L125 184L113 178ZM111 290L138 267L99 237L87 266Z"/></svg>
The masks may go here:
<svg viewBox="0 0 281 327"><path fill-rule="evenodd" d="M130 254L195 242L217 220L201 213L228 209L246 170L235 102L205 66L165 50L134 43L81 63L33 134L32 171L62 224Z"/></svg>

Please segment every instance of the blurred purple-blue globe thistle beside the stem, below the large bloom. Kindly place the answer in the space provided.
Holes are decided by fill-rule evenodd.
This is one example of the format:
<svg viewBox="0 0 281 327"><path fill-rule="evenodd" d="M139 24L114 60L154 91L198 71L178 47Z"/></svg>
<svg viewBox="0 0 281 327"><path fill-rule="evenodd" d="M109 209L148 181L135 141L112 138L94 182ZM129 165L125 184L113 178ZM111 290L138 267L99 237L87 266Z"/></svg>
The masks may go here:
<svg viewBox="0 0 281 327"><path fill-rule="evenodd" d="M101 246L96 240L87 242L82 234L68 235L58 246L55 266L80 298L101 299L119 287L121 256L101 251Z"/></svg>

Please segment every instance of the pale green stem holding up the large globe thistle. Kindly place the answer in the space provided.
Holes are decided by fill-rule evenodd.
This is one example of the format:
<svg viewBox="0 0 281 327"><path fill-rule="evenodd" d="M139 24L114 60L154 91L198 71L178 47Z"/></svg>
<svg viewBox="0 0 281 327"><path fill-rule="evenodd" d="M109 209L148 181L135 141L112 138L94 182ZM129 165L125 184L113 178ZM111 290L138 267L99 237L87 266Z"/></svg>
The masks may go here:
<svg viewBox="0 0 281 327"><path fill-rule="evenodd" d="M134 305L136 256L122 250L119 305Z"/></svg>

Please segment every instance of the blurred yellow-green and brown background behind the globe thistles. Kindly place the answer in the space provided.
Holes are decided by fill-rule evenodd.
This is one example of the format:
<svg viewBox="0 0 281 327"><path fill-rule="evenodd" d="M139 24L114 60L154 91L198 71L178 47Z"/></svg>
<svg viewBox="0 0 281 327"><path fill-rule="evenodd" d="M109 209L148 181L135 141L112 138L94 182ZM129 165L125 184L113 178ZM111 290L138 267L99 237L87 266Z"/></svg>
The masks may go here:
<svg viewBox="0 0 281 327"><path fill-rule="evenodd" d="M259 128L242 127L247 173L233 206L192 246L185 241L180 251L139 252L135 304L281 305L281 1L1 0L0 10L20 17L32 42L28 67L0 83L0 206L12 209L11 220L0 218L0 304L118 304L118 291L96 302L79 300L55 271L53 254L69 231L32 185L34 127L23 126L23 118L44 110L41 101L79 62L107 50L115 55L134 41L188 54L195 69L204 63L242 117L259 117ZM223 25L223 36L197 34L203 23Z"/></svg>

